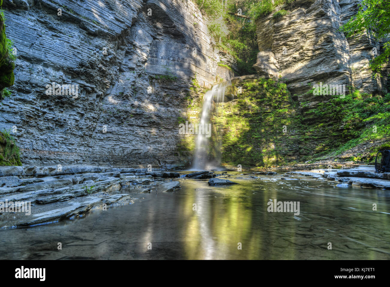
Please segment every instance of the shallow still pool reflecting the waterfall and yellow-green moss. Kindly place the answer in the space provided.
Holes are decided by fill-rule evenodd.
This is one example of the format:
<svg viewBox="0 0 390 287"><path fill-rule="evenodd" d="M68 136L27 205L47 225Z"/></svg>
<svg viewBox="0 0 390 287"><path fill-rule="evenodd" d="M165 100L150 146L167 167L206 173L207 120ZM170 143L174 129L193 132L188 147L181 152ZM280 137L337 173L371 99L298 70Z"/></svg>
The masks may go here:
<svg viewBox="0 0 390 287"><path fill-rule="evenodd" d="M2 230L0 259L390 259L390 191L229 174L238 184L181 178L170 193L122 188L134 204ZM268 212L270 199L300 202L300 213Z"/></svg>

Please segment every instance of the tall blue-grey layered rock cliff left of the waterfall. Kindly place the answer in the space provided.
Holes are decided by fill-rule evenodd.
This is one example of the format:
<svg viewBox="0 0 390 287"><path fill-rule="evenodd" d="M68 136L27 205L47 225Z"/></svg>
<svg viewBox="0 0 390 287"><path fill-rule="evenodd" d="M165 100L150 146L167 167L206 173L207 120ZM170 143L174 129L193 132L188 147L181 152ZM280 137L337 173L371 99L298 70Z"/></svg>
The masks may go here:
<svg viewBox="0 0 390 287"><path fill-rule="evenodd" d="M199 100L191 79L209 88L232 76L218 67L229 59L193 2L6 0L3 8L19 57L0 128L17 127L23 164L188 161L176 147L178 117ZM52 83L78 93L53 94Z"/></svg>

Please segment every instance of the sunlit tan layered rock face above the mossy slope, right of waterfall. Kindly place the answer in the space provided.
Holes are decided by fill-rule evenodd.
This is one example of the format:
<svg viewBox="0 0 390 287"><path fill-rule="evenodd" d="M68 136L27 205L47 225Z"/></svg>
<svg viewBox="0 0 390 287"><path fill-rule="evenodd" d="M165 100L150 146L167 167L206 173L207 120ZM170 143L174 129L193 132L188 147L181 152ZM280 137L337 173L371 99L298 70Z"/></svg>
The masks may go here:
<svg viewBox="0 0 390 287"><path fill-rule="evenodd" d="M380 43L362 33L346 38L338 29L358 11L353 0L298 0L256 21L259 53L254 65L260 76L287 79L299 101L316 102L314 95L302 95L308 83L348 85L366 93L386 90L387 78L372 78L369 60Z"/></svg>

